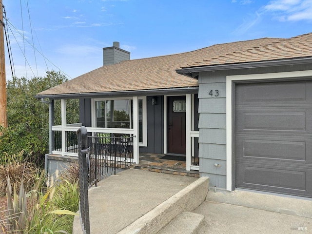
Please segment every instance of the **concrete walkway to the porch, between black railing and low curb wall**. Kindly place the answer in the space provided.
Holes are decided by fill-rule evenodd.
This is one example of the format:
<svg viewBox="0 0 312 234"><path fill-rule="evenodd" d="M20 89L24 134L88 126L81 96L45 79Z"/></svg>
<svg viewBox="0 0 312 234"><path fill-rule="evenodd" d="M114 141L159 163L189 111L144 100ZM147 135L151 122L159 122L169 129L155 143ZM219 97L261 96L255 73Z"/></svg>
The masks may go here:
<svg viewBox="0 0 312 234"><path fill-rule="evenodd" d="M115 234L198 178L129 169L89 190L91 234ZM81 234L78 216L73 234Z"/></svg>

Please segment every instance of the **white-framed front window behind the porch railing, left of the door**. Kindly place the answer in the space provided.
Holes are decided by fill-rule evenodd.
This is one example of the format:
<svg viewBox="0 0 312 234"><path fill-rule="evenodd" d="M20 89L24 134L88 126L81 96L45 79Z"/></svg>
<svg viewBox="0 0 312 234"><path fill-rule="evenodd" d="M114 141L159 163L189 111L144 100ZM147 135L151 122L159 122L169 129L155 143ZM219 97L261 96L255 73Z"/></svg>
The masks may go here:
<svg viewBox="0 0 312 234"><path fill-rule="evenodd" d="M147 146L146 97L138 98L138 141ZM133 98L92 99L92 127L133 128Z"/></svg>

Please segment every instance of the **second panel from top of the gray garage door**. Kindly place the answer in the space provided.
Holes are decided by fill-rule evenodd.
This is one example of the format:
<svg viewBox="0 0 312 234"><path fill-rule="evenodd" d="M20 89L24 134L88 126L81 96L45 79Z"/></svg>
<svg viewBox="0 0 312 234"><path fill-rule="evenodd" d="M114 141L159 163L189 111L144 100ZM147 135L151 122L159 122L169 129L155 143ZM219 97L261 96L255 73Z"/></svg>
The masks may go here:
<svg viewBox="0 0 312 234"><path fill-rule="evenodd" d="M309 110L243 110L236 111L236 131L269 133L290 131L312 134L312 109Z"/></svg>

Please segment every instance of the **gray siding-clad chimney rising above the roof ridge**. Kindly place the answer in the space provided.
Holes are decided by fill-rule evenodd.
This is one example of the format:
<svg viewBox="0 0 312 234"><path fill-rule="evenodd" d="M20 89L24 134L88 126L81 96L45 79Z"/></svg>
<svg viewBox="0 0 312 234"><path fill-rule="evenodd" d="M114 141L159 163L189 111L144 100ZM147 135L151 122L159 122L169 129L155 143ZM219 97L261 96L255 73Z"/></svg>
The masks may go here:
<svg viewBox="0 0 312 234"><path fill-rule="evenodd" d="M119 48L119 42L114 41L112 47L103 48L103 65L112 65L120 61L130 60L130 52Z"/></svg>

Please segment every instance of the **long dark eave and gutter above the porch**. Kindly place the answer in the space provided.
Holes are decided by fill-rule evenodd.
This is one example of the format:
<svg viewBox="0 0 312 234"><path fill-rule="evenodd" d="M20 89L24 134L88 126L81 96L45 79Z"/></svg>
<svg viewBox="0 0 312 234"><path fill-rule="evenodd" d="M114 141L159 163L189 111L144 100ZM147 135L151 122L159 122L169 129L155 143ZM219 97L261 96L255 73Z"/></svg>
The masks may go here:
<svg viewBox="0 0 312 234"><path fill-rule="evenodd" d="M50 99L74 99L74 98L99 98L99 97L133 97L133 96L153 96L164 94L181 94L181 93L196 93L198 86L182 87L182 88L166 88L166 89L147 89L147 90L132 90L132 91L115 91L115 92L98 92L98 93L76 93L76 94L51 94L51 95L36 95L35 98L50 98Z"/></svg>

